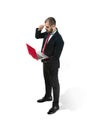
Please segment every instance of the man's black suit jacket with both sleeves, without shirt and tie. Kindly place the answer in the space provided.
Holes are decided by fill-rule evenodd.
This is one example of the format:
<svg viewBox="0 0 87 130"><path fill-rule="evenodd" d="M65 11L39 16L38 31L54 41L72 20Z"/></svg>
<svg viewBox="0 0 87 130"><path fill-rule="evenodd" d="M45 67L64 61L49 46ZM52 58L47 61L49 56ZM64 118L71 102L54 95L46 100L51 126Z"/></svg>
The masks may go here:
<svg viewBox="0 0 87 130"><path fill-rule="evenodd" d="M35 37L37 39L43 38L42 48L44 46L47 35L48 35L47 32L41 33L41 31L38 31L38 28L36 28ZM58 61L58 65L60 66L59 58L60 58L63 46L64 46L64 41L57 30L56 33L52 36L52 38L49 40L48 44L46 45L44 54L46 54L49 57L48 60L46 60L46 62L52 63L52 62ZM42 61L45 61L45 60L42 60Z"/></svg>

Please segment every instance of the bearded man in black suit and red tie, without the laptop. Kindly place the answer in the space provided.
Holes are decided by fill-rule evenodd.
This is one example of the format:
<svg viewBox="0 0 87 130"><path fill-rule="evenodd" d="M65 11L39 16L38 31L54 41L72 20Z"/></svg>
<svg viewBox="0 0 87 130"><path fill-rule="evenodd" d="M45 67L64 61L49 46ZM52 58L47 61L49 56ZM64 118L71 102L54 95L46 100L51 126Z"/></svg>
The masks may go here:
<svg viewBox="0 0 87 130"><path fill-rule="evenodd" d="M41 32L44 27L46 31ZM60 86L58 81L58 68L60 67L59 58L64 41L56 28L56 20L53 17L47 18L45 20L45 25L40 25L36 28L35 37L37 39L43 38L41 52L49 57L42 60L45 80L45 96L37 102L42 103L51 101L51 90L53 89L52 108L48 111L48 114L53 114L59 109Z"/></svg>

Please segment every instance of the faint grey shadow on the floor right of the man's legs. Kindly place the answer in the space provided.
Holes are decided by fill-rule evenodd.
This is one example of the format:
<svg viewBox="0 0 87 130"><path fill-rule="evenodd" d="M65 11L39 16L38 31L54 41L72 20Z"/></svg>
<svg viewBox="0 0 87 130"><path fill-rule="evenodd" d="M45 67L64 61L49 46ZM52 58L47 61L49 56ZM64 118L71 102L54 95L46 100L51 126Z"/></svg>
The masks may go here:
<svg viewBox="0 0 87 130"><path fill-rule="evenodd" d="M60 96L60 109L76 110L84 105L86 93L84 89L79 87L69 88Z"/></svg>

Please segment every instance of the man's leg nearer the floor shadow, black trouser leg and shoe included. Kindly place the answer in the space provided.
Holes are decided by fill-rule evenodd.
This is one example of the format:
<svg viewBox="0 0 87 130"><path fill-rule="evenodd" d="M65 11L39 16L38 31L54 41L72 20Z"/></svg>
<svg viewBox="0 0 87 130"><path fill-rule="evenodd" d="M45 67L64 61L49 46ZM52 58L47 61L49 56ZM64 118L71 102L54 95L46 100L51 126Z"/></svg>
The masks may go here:
<svg viewBox="0 0 87 130"><path fill-rule="evenodd" d="M50 68L50 84L53 88L53 105L48 114L55 113L59 109L60 86L58 81L58 66L54 64Z"/></svg>

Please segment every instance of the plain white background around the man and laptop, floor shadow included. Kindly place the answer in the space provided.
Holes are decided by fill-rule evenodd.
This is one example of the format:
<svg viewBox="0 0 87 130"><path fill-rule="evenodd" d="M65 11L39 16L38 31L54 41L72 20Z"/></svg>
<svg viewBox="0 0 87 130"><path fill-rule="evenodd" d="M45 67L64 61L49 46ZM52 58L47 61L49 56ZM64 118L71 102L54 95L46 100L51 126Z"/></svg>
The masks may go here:
<svg viewBox="0 0 87 130"><path fill-rule="evenodd" d="M86 0L0 1L0 130L87 130ZM65 46L59 80L60 110L44 95L42 63L29 56L26 43L40 50L35 29L55 17Z"/></svg>

